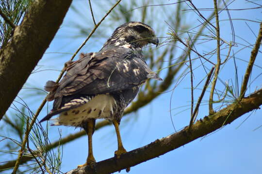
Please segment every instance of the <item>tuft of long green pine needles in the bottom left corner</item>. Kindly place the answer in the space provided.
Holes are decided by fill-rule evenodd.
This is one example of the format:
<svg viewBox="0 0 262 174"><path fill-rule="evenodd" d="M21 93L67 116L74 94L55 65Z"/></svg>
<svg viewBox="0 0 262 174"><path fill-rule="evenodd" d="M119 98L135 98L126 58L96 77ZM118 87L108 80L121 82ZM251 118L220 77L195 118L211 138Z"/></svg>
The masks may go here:
<svg viewBox="0 0 262 174"><path fill-rule="evenodd" d="M9 116L5 115L2 120L6 124L5 127L1 127L0 129L9 132L6 136L0 136L0 142L4 144L4 146L1 147L4 148L4 150L0 150L0 156L5 159L16 158L23 141L23 135L27 131L27 124L33 116L32 111L27 107L25 102L22 101L19 104L24 106L22 108L17 108L16 105L14 105L13 108L17 111L16 116L12 116L11 119ZM50 145L48 132L48 125L46 125L45 128L41 124L33 125L33 129L29 134L29 140L24 150L24 157L32 158L32 160L26 165L21 166L21 168L19 168L19 173L60 173L63 147L58 144L56 150L47 149L47 146ZM59 134L60 140L62 136L61 131L59 131ZM19 139L16 138L17 136Z"/></svg>

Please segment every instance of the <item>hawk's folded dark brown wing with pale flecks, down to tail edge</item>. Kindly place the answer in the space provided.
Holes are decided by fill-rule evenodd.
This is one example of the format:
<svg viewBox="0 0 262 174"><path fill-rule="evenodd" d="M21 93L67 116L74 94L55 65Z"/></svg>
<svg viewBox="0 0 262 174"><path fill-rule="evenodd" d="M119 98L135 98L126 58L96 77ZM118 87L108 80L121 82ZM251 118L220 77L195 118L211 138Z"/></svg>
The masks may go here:
<svg viewBox="0 0 262 174"><path fill-rule="evenodd" d="M55 101L51 113L43 120L71 109L71 106L69 108L69 105L64 104L74 98L130 89L141 85L148 78L162 80L149 69L141 57L141 53L135 53L131 49L115 47L68 62L67 73L61 82L55 84L49 81L50 84L46 85L46 89L51 91L49 101ZM84 101L77 105L82 103Z"/></svg>

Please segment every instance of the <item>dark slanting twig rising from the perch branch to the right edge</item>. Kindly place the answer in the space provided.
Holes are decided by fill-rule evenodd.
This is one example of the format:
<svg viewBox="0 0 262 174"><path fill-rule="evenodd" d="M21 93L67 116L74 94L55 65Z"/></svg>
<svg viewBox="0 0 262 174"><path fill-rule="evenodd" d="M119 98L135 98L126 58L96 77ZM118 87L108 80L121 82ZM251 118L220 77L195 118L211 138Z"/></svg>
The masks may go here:
<svg viewBox="0 0 262 174"><path fill-rule="evenodd" d="M259 34L258 34L256 43L255 43L255 46L253 47L253 49L251 51L249 63L248 63L247 68L246 68L246 73L245 73L243 84L242 84L241 91L240 91L240 99L242 99L245 96L247 82L248 82L250 73L252 72L252 68L253 68L255 59L257 57L258 50L259 50L260 45L261 45L261 40L262 40L262 23L260 23Z"/></svg>

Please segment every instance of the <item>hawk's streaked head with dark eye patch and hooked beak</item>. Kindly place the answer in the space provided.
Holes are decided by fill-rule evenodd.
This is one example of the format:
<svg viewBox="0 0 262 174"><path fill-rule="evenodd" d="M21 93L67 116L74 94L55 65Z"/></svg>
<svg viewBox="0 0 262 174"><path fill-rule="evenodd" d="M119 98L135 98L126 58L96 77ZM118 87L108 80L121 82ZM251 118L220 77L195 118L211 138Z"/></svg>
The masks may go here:
<svg viewBox="0 0 262 174"><path fill-rule="evenodd" d="M154 30L150 26L142 22L128 22L116 28L106 44L120 46L123 43L128 43L142 48L148 43L157 46L158 42Z"/></svg>

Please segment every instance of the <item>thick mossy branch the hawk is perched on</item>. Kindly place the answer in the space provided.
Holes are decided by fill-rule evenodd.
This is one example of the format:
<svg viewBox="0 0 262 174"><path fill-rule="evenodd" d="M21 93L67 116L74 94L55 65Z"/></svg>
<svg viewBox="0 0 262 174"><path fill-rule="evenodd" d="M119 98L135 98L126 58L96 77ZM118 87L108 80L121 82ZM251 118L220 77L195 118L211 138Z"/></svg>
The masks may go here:
<svg viewBox="0 0 262 174"><path fill-rule="evenodd" d="M231 123L236 118L252 110L259 109L260 105L262 105L262 89L243 98L241 101L228 105L213 115L205 116L203 120L198 120L192 125L190 131L188 131L188 127L185 127L177 133L123 154L120 159L111 158L100 161L96 163L96 171L86 166L71 170L66 174L111 174L135 166L207 135Z"/></svg>

